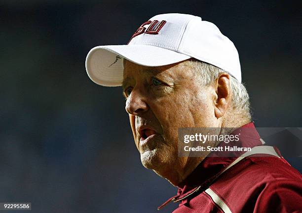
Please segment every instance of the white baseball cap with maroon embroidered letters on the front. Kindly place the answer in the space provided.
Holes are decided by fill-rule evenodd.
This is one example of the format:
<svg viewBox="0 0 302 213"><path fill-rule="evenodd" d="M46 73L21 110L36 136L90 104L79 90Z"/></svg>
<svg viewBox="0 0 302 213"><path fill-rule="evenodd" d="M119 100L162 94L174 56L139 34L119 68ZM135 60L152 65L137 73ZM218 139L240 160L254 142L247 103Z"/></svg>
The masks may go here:
<svg viewBox="0 0 302 213"><path fill-rule="evenodd" d="M132 35L127 45L92 48L86 71L96 84L121 86L123 59L144 66L163 66L195 58L213 64L241 82L238 52L211 22L200 17L169 13L152 17Z"/></svg>

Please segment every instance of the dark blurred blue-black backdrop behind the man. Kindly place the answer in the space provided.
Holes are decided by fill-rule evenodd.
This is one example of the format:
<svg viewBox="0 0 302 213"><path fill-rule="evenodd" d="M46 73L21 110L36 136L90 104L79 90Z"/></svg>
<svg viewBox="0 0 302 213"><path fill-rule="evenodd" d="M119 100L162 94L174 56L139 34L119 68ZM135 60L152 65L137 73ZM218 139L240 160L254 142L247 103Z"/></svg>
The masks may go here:
<svg viewBox="0 0 302 213"><path fill-rule="evenodd" d="M176 194L141 165L121 89L94 84L84 63L94 46L126 44L171 12L211 21L234 42L256 126L302 126L301 2L1 0L0 202L155 213ZM300 159L291 161L301 171Z"/></svg>

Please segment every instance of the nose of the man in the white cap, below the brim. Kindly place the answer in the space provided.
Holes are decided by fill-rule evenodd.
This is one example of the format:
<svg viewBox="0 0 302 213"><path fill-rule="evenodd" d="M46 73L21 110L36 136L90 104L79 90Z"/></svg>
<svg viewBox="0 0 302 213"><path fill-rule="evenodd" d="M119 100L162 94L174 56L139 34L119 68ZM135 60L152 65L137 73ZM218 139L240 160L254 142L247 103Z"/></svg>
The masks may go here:
<svg viewBox="0 0 302 213"><path fill-rule="evenodd" d="M147 112L149 106L146 103L146 97L139 90L133 89L127 98L125 109L127 113L139 116Z"/></svg>

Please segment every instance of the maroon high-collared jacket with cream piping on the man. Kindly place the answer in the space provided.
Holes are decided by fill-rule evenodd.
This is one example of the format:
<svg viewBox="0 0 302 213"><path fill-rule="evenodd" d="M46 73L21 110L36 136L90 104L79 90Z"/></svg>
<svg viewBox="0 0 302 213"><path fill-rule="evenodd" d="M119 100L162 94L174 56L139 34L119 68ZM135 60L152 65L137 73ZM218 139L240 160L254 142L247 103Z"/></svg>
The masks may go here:
<svg viewBox="0 0 302 213"><path fill-rule="evenodd" d="M238 132L241 147L267 147L253 122L233 134ZM300 172L276 148L269 148L275 154L254 153L238 158L244 152L227 155L233 157L211 152L178 185L177 195L158 209L175 202L179 207L173 213L302 213Z"/></svg>

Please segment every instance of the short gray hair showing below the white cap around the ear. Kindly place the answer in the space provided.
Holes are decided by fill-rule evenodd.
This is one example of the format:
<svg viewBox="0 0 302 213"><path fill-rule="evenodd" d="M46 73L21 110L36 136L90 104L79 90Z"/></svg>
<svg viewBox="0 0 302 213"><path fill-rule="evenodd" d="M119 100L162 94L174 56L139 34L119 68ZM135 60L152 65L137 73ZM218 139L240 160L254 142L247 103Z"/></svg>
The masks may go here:
<svg viewBox="0 0 302 213"><path fill-rule="evenodd" d="M220 73L226 72L217 66L195 59L188 60L186 63L195 71L195 76L198 77L198 81L203 86L212 84ZM236 110L237 113L246 116L248 120L251 120L250 98L245 86L231 75L230 84L233 109Z"/></svg>

